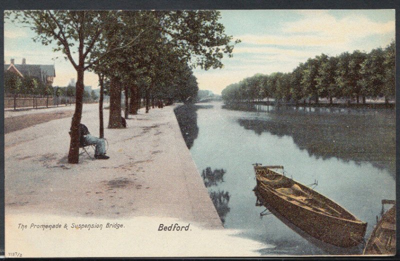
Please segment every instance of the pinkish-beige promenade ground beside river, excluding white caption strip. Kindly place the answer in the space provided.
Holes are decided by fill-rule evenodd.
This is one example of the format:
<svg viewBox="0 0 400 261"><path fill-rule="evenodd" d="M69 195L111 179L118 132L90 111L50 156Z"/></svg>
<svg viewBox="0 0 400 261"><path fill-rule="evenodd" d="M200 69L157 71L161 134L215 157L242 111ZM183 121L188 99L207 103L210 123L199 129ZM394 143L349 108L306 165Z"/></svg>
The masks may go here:
<svg viewBox="0 0 400 261"><path fill-rule="evenodd" d="M83 110L82 123L98 135L95 105L85 104L92 109ZM66 161L69 117L6 134L7 213L168 216L221 228L173 108L139 110L128 128L105 128L110 159L82 155L76 165Z"/></svg>

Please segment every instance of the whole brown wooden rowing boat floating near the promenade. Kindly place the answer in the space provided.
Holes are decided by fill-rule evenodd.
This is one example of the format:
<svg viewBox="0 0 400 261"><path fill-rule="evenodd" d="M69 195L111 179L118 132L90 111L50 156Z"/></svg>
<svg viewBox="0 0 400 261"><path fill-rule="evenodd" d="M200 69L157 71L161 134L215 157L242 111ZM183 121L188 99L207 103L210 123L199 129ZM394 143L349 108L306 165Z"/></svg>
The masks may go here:
<svg viewBox="0 0 400 261"><path fill-rule="evenodd" d="M279 214L326 243L350 247L363 240L367 223L275 168L283 166L254 166L260 196Z"/></svg>

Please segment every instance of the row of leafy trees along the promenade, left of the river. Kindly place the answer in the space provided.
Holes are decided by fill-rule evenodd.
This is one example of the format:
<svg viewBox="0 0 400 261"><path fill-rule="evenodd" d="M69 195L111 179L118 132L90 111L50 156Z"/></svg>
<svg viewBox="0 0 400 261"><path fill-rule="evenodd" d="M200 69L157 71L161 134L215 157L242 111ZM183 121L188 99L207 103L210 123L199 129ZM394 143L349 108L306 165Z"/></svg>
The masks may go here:
<svg viewBox="0 0 400 261"><path fill-rule="evenodd" d="M68 162L79 159L78 125L82 113L85 71L97 73L100 85L99 128L103 136L102 100L110 100L109 128L122 128L121 92L125 117L135 114L141 97L150 101L187 100L196 96L192 67L222 66L231 56L232 41L215 10L25 10L6 11L5 18L30 27L34 41L53 44L76 70L76 104L71 123Z"/></svg>

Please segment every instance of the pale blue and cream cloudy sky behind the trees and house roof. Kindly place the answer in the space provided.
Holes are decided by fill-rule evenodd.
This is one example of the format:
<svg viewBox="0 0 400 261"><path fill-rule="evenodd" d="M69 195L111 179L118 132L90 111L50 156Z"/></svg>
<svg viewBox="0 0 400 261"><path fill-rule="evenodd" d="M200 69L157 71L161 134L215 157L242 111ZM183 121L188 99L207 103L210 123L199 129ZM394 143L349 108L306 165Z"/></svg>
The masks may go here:
<svg viewBox="0 0 400 261"><path fill-rule="evenodd" d="M322 52L337 55L355 49L369 52L395 38L394 9L358 10L221 10L225 32L240 39L233 57L220 69L195 68L200 89L216 94L228 84L255 73L292 71L300 62ZM9 20L4 23L4 59L9 63L54 64L53 86L66 86L76 72L51 45L33 42L34 32ZM58 58L56 58L58 57ZM86 72L84 84L98 87L97 75Z"/></svg>

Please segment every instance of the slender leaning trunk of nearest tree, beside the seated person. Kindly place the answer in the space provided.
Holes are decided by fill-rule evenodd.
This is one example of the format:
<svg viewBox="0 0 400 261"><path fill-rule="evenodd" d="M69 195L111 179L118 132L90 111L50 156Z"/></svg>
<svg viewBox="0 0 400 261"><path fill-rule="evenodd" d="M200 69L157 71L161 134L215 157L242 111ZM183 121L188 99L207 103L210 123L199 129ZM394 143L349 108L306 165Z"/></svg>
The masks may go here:
<svg viewBox="0 0 400 261"><path fill-rule="evenodd" d="M82 117L82 106L83 106L83 73L84 73L84 63L79 62L76 80L76 99L75 99L75 112L73 113L72 123L71 123L71 140L69 143L68 152L68 163L78 163L79 162L79 123Z"/></svg>

